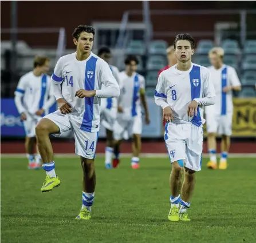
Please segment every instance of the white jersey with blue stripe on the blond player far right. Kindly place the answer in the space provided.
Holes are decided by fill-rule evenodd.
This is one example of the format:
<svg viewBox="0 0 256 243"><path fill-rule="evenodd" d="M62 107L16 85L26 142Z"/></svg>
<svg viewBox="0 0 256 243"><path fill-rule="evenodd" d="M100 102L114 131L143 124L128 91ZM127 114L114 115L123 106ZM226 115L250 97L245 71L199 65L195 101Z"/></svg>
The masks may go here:
<svg viewBox="0 0 256 243"><path fill-rule="evenodd" d="M241 86L237 72L234 67L223 65L220 69L214 66L208 67L211 73L212 83L216 93L216 101L212 106L206 108L206 113L215 113L215 115L233 114L233 95L232 90L225 93L225 86Z"/></svg>

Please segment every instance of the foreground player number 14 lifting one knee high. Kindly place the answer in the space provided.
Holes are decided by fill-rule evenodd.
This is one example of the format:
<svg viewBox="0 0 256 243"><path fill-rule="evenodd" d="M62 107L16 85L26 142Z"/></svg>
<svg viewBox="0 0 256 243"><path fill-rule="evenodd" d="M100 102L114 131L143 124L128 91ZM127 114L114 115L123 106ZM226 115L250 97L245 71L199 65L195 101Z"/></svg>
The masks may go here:
<svg viewBox="0 0 256 243"><path fill-rule="evenodd" d="M118 97L119 86L107 62L93 54L95 31L80 25L73 32L76 52L61 57L54 69L52 83L59 109L37 124L38 149L46 171L42 192L60 185L56 176L49 134L74 133L76 154L84 173L82 208L77 219L89 220L93 205L96 176L94 157L100 126L100 98ZM104 84L104 89L101 86ZM62 87L61 87L62 85ZM70 182L72 183L72 182Z"/></svg>

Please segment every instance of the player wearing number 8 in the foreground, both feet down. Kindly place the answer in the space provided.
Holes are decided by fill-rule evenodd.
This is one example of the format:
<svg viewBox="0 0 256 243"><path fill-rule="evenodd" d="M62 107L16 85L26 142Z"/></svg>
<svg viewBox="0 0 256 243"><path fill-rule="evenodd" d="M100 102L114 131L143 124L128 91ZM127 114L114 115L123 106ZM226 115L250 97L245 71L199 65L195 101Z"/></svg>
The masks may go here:
<svg viewBox="0 0 256 243"><path fill-rule="evenodd" d="M194 39L189 34L179 34L174 47L178 64L159 75L155 102L163 108L163 118L167 120L164 140L172 164L168 219L190 221L187 209L194 191L195 172L201 170L203 106L214 104L215 91L207 67L191 62Z"/></svg>

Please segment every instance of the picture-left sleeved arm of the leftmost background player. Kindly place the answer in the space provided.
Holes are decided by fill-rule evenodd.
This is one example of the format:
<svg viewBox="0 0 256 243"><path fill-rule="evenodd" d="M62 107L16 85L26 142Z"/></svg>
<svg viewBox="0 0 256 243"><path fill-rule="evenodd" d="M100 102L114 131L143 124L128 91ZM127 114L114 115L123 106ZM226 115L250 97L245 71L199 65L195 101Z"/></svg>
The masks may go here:
<svg viewBox="0 0 256 243"><path fill-rule="evenodd" d="M14 92L14 94L15 94L14 102L15 102L15 105L17 107L19 114L21 115L22 121L27 119L26 109L22 104L22 97L25 94L26 86L27 86L26 78L21 77L21 79L19 79L17 89Z"/></svg>

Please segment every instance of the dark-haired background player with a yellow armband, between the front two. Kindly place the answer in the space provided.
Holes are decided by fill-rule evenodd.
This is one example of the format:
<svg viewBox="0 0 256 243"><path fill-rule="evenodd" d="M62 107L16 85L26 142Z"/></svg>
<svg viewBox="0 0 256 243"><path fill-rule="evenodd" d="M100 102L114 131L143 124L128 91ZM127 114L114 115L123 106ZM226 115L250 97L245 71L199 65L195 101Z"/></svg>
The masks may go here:
<svg viewBox="0 0 256 243"><path fill-rule="evenodd" d="M149 124L148 106L145 97L145 79L136 73L139 60L135 55L128 55L125 58L125 71L120 73L121 94L118 104L117 120L114 125L114 160L113 167L119 165L120 145L124 133L128 130L129 136L132 134L132 161L133 169L139 168L139 155L141 150L142 103L145 111L145 123Z"/></svg>

